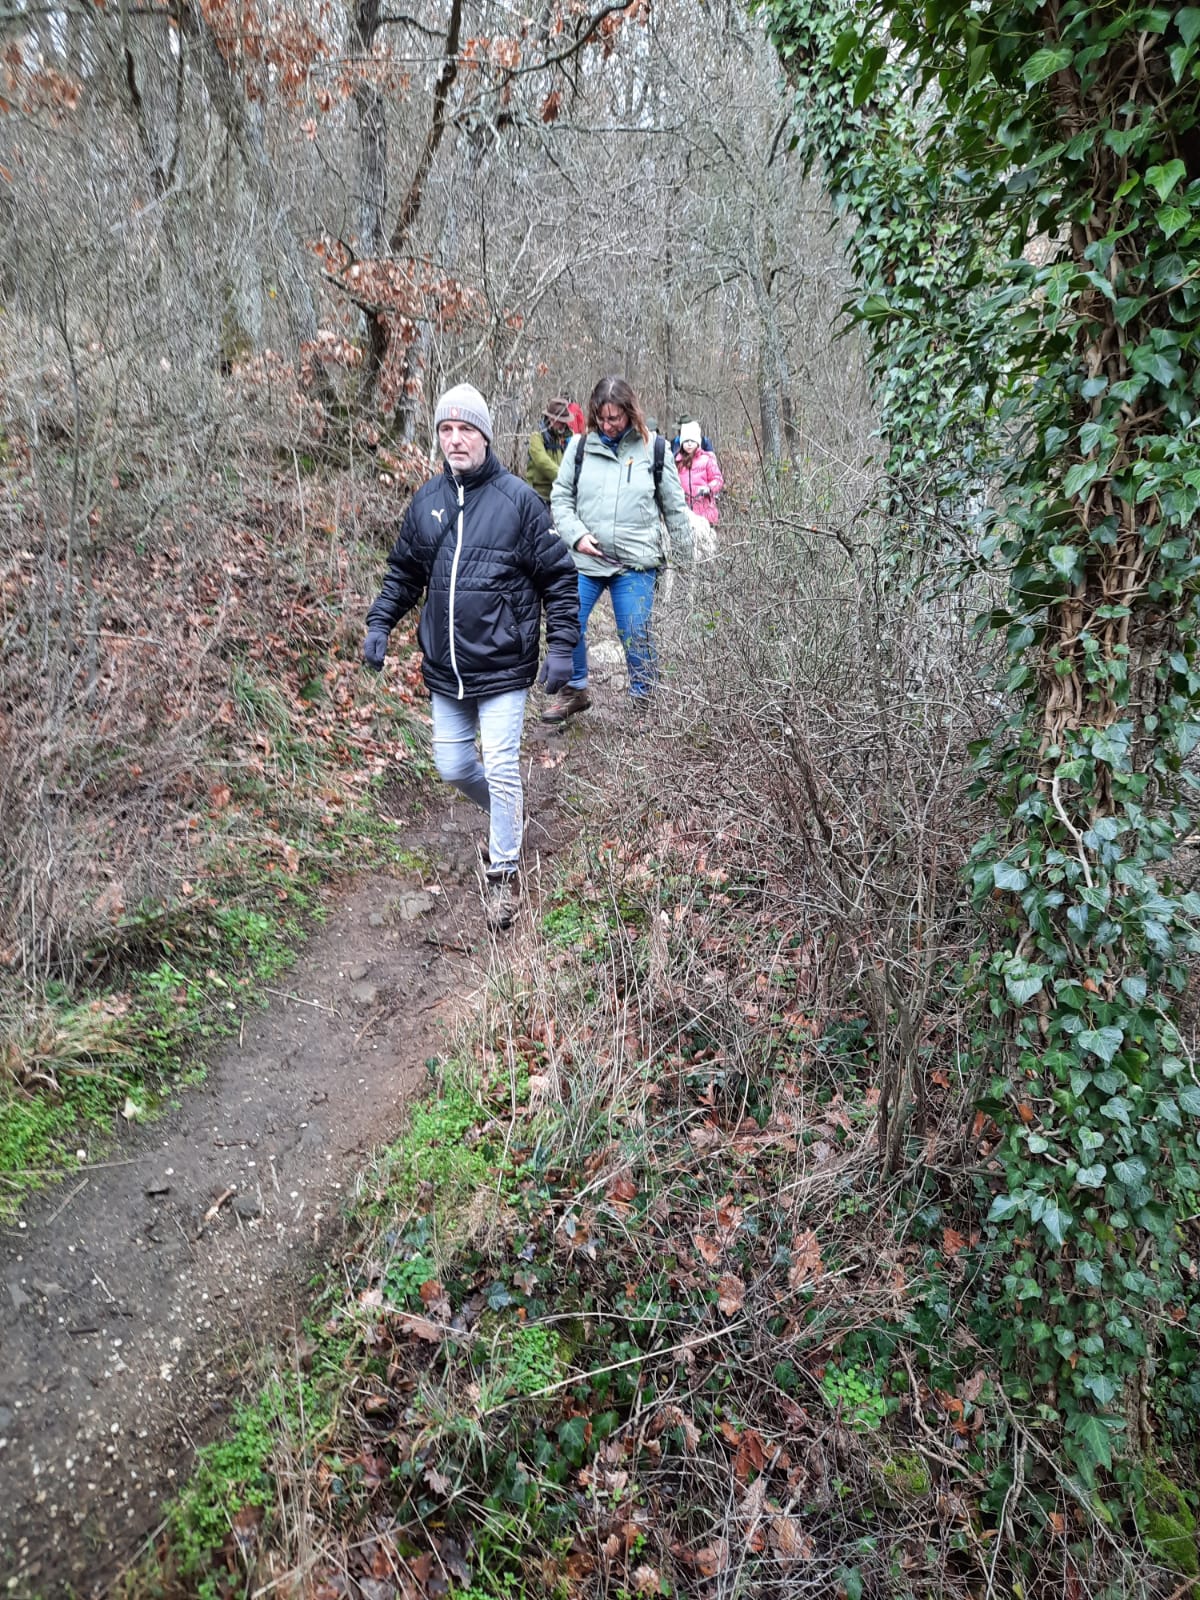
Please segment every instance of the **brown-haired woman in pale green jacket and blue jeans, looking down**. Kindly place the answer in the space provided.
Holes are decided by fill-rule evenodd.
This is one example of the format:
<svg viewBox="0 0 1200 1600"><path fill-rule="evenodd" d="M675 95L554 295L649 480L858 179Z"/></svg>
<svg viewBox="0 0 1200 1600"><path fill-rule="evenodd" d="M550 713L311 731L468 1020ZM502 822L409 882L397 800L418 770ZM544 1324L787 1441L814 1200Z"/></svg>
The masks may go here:
<svg viewBox="0 0 1200 1600"><path fill-rule="evenodd" d="M651 611L658 576L670 554L691 557L691 523L678 470L653 438L624 378L602 378L587 403L587 432L568 446L550 491L558 534L579 574L579 643L566 688L542 712L565 722L587 710L587 618L605 590L626 651L629 693L645 706L658 682Z"/></svg>

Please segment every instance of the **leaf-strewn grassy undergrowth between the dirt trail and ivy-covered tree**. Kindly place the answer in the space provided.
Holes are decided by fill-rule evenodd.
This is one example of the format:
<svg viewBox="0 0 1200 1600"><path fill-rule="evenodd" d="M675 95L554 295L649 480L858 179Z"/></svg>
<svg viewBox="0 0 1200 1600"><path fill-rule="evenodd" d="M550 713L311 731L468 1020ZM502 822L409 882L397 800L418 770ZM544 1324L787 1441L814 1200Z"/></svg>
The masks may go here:
<svg viewBox="0 0 1200 1600"><path fill-rule="evenodd" d="M960 1106L934 1067L880 1186L870 1030L816 1010L771 870L645 843L562 870L363 1179L307 1424L264 1390L138 1594L965 1600L1050 1592L1064 1560L1141 1592L1134 1549L1190 1571L1181 1470L1101 1506L995 1387Z"/></svg>

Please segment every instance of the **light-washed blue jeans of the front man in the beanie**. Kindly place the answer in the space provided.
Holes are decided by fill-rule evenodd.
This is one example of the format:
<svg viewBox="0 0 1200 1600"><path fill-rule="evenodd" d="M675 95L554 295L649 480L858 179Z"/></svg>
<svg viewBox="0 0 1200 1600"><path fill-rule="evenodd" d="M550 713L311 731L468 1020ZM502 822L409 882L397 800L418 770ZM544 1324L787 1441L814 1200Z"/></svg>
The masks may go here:
<svg viewBox="0 0 1200 1600"><path fill-rule="evenodd" d="M526 690L509 690L507 694L461 701L448 694L430 694L438 776L488 813L493 875L515 872L522 851L525 814L520 754L526 694Z"/></svg>

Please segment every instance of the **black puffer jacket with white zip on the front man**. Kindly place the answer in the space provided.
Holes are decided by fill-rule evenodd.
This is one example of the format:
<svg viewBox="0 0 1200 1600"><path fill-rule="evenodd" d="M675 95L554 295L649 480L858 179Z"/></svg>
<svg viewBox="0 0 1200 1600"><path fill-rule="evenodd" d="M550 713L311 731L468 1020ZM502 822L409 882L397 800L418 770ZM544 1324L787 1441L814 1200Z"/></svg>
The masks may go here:
<svg viewBox="0 0 1200 1600"><path fill-rule="evenodd" d="M579 638L570 550L546 502L491 450L474 472L446 466L416 491L366 626L390 630L422 594L424 678L453 699L533 683L542 605L549 645L573 650Z"/></svg>

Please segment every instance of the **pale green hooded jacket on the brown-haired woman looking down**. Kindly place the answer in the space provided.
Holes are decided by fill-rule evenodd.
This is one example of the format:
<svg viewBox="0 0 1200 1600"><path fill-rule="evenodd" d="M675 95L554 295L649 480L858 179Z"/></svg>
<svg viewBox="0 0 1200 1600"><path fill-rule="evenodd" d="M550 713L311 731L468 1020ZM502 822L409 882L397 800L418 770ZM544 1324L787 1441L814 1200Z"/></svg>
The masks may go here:
<svg viewBox="0 0 1200 1600"><path fill-rule="evenodd" d="M574 456L582 450L579 491L574 490ZM667 451L662 462L662 520L654 499L653 438L646 445L629 429L616 454L602 443L598 434L578 434L563 453L558 477L550 490L550 510L560 538L574 557L574 565L590 578L611 578L621 568L653 571L672 562L691 560L691 523L678 470ZM581 555L579 539L592 534L611 557L598 562Z"/></svg>

